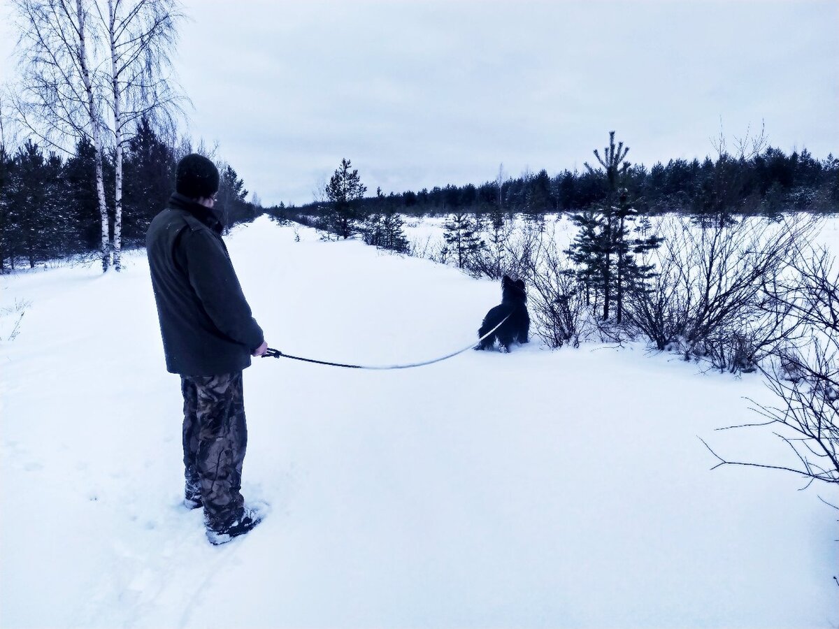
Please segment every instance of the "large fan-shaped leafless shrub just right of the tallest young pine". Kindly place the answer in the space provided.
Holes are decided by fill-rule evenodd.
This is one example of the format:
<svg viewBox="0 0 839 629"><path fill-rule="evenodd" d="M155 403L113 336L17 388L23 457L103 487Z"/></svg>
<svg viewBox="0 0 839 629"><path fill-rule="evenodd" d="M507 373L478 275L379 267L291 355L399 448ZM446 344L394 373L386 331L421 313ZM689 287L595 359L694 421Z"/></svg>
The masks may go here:
<svg viewBox="0 0 839 629"><path fill-rule="evenodd" d="M664 245L649 253L657 274L633 289L626 316L659 350L754 371L791 331L787 306L767 287L788 274L816 226L788 217L700 228L671 218Z"/></svg>

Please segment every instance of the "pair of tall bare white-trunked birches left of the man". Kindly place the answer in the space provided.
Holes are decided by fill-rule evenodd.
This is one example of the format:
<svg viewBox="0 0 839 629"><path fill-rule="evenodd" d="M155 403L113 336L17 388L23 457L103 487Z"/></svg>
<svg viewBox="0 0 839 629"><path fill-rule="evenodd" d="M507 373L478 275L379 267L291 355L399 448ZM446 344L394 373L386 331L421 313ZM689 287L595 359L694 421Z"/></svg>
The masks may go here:
<svg viewBox="0 0 839 629"><path fill-rule="evenodd" d="M83 138L95 149L102 270L121 268L122 151L146 117L171 122L181 97L169 81L170 48L182 17L176 0L13 0L24 127L54 148ZM110 116L106 116L110 114ZM114 154L113 240L103 155ZM113 262L111 262L113 257Z"/></svg>

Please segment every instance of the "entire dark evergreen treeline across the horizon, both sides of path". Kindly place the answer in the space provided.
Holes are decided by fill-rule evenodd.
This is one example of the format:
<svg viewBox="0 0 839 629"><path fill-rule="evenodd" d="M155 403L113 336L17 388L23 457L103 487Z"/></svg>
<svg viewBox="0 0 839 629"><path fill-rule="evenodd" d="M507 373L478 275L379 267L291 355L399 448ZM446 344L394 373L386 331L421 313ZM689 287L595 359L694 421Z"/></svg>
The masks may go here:
<svg viewBox="0 0 839 629"><path fill-rule="evenodd" d="M643 214L677 211L691 215L774 217L784 211L839 211L839 159L832 154L816 159L807 150L787 155L778 148L754 146L751 152L740 147L732 155L722 141L717 148L716 159L671 159L650 169L624 162L628 165L621 169L618 183L626 190L634 210ZM167 141L149 121L138 122L125 147L122 164L119 222L125 247L143 246L149 222L174 189L178 159L191 150L194 149L188 142L175 146L174 141ZM104 154L102 162L113 240L113 155ZM310 204L281 203L264 208L257 195L248 200L244 181L230 164L221 160L216 163L221 172L216 208L228 228L267 212L278 219L326 226L328 231L343 237L357 233L351 229L352 221L375 215L384 215L387 222L391 220L388 216L394 214L505 212L539 217L556 212L597 211L606 202L612 186L603 169L589 168L588 164L582 171L565 169L554 176L542 169L535 174L510 177L502 167L496 179L480 185L435 186L431 190L402 193L377 190L375 195L367 195L363 173L349 172L350 162L344 159L343 177L356 186L349 198L343 198L344 193L337 188L330 190L331 185L346 185L345 180L342 184L331 182L319 191L320 198ZM331 218L324 220L328 216ZM394 227L394 233L400 231L398 227ZM397 238L388 248L404 250L405 245ZM39 262L57 257L81 255L93 259L96 254L102 255L102 216L91 143L81 140L74 153L66 157L45 150L31 139L17 147L0 146L0 272L34 268Z"/></svg>

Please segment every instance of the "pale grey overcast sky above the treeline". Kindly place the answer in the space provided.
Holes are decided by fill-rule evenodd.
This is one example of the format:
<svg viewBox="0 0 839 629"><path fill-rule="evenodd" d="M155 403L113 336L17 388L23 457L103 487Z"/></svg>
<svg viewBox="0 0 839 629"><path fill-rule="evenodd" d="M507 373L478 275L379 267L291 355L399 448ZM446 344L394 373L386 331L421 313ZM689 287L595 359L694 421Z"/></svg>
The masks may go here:
<svg viewBox="0 0 839 629"><path fill-rule="evenodd" d="M721 118L730 139L765 121L784 151L839 154L839 0L184 8L186 131L264 205L310 202L345 157L370 193L582 169L610 130L633 163L704 158Z"/></svg>

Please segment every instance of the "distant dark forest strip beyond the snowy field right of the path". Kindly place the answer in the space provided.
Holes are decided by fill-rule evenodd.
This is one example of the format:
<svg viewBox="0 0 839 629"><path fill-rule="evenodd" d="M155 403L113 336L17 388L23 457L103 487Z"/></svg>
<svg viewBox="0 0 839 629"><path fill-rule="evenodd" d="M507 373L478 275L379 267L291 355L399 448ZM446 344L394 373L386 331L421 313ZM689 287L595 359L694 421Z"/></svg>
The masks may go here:
<svg viewBox="0 0 839 629"><path fill-rule="evenodd" d="M643 164L630 165L622 185L635 208L644 214L778 216L783 211L839 211L839 159L832 154L816 159L806 149L787 155L769 147L738 157L723 152L717 159L671 159L650 169ZM357 211L361 215L387 210L436 216L500 210L539 216L591 209L602 202L606 192L602 170L565 169L550 176L542 169L519 177L502 175L480 185L450 184L389 195L380 192L357 200ZM303 218L319 216L328 206L328 201L317 200L297 208L280 205L271 210Z"/></svg>

